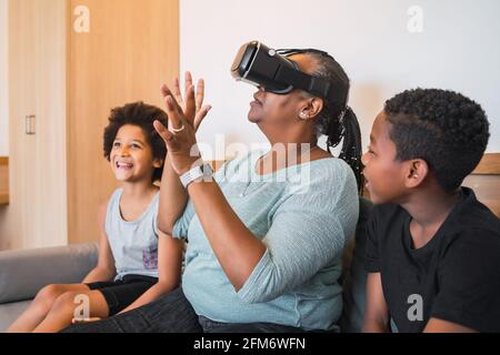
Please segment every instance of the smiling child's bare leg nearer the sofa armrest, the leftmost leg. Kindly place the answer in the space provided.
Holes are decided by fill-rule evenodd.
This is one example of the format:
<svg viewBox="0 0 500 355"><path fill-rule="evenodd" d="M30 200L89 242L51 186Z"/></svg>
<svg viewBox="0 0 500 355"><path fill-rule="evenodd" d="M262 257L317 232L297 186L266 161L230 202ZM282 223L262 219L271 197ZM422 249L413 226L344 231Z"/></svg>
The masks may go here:
<svg viewBox="0 0 500 355"><path fill-rule="evenodd" d="M30 333L47 316L56 300L66 292L84 292L84 284L48 285L39 291L29 307L12 323L7 333Z"/></svg>

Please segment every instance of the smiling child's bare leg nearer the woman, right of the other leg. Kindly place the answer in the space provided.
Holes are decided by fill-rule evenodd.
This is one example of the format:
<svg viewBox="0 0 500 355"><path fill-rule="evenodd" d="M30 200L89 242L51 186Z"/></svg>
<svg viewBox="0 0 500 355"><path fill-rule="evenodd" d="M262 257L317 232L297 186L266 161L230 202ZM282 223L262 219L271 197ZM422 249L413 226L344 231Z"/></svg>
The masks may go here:
<svg viewBox="0 0 500 355"><path fill-rule="evenodd" d="M71 321L74 317L74 310L80 306L79 302L76 302L80 295L87 295L89 297L89 317L108 317L108 303L100 291L67 292L56 300L49 314L34 328L33 333L54 333L71 325Z"/></svg>

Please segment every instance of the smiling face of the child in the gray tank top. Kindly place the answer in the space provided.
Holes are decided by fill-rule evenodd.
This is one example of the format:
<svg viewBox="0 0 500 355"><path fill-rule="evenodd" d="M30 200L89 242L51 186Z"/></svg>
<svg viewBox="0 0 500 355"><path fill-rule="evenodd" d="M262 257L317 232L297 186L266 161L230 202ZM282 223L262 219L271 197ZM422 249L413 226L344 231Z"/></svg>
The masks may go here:
<svg viewBox="0 0 500 355"><path fill-rule="evenodd" d="M132 124L124 124L118 130L110 163L114 176L121 182L151 181L154 169L161 166L161 161L153 159L142 129Z"/></svg>

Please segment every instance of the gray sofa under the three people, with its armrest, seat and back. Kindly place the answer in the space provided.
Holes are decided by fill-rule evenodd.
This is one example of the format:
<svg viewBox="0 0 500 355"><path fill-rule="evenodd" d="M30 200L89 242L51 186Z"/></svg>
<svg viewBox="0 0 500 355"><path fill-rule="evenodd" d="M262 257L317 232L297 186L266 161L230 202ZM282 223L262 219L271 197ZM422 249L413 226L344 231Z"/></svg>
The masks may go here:
<svg viewBox="0 0 500 355"><path fill-rule="evenodd" d="M363 270L364 227L371 202L360 200L356 240L346 247L342 275L344 312L340 326L359 332L364 313L366 272ZM0 252L0 333L28 307L48 284L79 283L97 265L96 243Z"/></svg>

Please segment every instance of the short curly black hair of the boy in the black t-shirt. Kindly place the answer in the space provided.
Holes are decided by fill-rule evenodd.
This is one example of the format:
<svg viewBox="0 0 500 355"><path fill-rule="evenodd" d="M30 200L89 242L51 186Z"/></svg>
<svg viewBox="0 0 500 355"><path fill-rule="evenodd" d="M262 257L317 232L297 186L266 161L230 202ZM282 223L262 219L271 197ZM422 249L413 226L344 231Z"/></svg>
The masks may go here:
<svg viewBox="0 0 500 355"><path fill-rule="evenodd" d="M407 90L384 112L400 161L423 159L440 186L451 192L478 165L488 145L489 122L481 106L448 90Z"/></svg>

